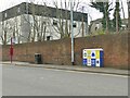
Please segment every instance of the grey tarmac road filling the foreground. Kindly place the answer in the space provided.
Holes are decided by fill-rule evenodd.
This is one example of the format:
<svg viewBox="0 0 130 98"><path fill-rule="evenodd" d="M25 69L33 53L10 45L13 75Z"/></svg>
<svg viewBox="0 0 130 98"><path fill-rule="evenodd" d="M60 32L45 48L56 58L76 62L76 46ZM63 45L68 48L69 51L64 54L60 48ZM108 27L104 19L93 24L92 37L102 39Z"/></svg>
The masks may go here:
<svg viewBox="0 0 130 98"><path fill-rule="evenodd" d="M128 96L128 77L15 65L2 66L3 96Z"/></svg>

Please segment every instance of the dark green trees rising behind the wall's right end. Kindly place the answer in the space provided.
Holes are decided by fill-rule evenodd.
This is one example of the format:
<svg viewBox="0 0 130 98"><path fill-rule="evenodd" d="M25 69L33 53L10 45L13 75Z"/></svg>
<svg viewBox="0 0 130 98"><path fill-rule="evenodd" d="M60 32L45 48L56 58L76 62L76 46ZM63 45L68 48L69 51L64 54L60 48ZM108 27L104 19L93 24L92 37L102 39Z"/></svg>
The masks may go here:
<svg viewBox="0 0 130 98"><path fill-rule="evenodd" d="M115 7L113 7L114 3ZM121 30L122 20L125 19L122 0L116 0L115 2L108 0L99 2L98 0L92 0L90 7L103 13L103 17L102 17L103 30L105 30L106 33L112 33L112 32L119 33ZM109 19L110 11L114 11L113 13L114 19L112 20ZM123 19L121 19L120 16L121 11Z"/></svg>

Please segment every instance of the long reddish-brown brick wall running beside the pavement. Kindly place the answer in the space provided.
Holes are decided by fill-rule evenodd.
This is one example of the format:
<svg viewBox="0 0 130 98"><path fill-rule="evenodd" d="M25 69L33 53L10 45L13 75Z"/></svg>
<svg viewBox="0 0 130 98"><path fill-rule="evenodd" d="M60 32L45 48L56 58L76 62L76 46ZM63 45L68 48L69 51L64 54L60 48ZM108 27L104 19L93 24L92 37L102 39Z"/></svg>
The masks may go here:
<svg viewBox="0 0 130 98"><path fill-rule="evenodd" d="M128 41L130 40L129 34L130 33L76 38L75 64L82 64L82 49L103 48L104 66L128 69L128 63L130 62L130 60L128 60ZM2 49L3 60L10 60L10 46L3 46ZM36 52L42 54L43 63L72 64L70 38L53 41L15 45L13 60L34 62L34 54Z"/></svg>

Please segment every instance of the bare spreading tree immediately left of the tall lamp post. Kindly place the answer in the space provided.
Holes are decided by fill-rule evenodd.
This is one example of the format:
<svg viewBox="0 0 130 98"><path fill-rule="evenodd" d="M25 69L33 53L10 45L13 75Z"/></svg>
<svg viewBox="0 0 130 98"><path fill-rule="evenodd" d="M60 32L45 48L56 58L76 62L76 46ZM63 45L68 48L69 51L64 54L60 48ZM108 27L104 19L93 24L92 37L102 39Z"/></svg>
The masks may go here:
<svg viewBox="0 0 130 98"><path fill-rule="evenodd" d="M73 3L73 9L75 9L75 11L77 11L78 5L79 5L80 1L78 0L77 2L75 1ZM68 20L68 14L69 14L69 9L70 9L70 1L64 1L62 2L61 0L61 4L58 5L57 1L53 1L53 4L56 8L56 17L57 17L57 22L58 25L57 27L57 34L61 35L61 38L65 38L65 37L70 37L70 21ZM60 8L61 7L61 8ZM63 10L64 9L64 10ZM63 16L64 13L64 16ZM78 33L79 35L79 33Z"/></svg>

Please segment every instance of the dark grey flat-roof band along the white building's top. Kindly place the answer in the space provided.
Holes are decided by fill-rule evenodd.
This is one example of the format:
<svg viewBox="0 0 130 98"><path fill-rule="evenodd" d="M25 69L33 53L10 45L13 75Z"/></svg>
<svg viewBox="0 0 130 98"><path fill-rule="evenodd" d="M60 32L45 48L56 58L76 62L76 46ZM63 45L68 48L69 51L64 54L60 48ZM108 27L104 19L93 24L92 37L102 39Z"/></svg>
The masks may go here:
<svg viewBox="0 0 130 98"><path fill-rule="evenodd" d="M70 20L70 11L64 9L56 9L52 7L46 7L40 4L27 3L22 2L15 7L6 9L1 12L2 13L2 21L22 15L22 14L35 14L39 16L48 16L48 17L56 17L56 19L64 19ZM81 12L74 11L74 21L82 21L88 22L88 14Z"/></svg>

